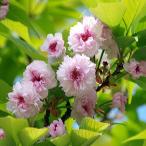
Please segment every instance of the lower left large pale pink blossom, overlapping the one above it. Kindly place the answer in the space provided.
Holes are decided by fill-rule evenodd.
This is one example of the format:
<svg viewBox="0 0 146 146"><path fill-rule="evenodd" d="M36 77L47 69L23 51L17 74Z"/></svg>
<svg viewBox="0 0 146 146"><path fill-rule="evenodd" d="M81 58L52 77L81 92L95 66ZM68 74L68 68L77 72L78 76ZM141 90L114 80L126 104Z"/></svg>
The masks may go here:
<svg viewBox="0 0 146 146"><path fill-rule="evenodd" d="M13 91L8 94L7 109L16 117L29 118L35 116L42 107L40 95L36 92L30 81L17 82Z"/></svg>

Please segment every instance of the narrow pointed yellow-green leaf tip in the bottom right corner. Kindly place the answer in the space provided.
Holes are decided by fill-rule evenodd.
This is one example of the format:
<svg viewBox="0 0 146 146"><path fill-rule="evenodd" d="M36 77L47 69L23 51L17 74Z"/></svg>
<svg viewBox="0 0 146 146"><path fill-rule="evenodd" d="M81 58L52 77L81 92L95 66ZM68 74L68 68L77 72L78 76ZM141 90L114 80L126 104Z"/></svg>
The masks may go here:
<svg viewBox="0 0 146 146"><path fill-rule="evenodd" d="M137 134L133 137L126 139L123 143L127 143L127 142L130 142L133 140L142 140L142 139L146 139L146 130L140 132L139 134Z"/></svg>

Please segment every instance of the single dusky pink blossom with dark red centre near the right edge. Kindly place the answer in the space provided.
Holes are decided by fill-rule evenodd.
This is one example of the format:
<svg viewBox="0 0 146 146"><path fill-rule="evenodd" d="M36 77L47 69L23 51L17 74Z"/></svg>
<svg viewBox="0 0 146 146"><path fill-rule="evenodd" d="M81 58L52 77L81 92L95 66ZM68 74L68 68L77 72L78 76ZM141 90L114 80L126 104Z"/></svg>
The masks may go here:
<svg viewBox="0 0 146 146"><path fill-rule="evenodd" d="M143 76L142 69L140 62L136 61L135 59L131 60L129 63L124 64L124 69L131 74L134 78L139 78Z"/></svg>

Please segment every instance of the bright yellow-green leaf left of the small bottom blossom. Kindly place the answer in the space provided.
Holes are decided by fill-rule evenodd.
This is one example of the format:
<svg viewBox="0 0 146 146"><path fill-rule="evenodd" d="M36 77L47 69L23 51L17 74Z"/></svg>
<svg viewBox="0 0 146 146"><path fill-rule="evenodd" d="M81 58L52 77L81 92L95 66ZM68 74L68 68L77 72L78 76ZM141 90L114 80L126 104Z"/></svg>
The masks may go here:
<svg viewBox="0 0 146 146"><path fill-rule="evenodd" d="M22 142L22 146L32 146L37 140L45 136L47 133L48 128L37 129L26 127L21 131L19 137Z"/></svg>

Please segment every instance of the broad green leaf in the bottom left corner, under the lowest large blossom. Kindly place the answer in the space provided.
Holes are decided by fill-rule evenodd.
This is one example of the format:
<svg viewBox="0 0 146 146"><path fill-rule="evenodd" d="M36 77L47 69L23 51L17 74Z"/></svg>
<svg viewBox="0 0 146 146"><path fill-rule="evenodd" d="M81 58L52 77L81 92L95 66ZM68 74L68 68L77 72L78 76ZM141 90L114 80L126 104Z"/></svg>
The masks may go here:
<svg viewBox="0 0 146 146"><path fill-rule="evenodd" d="M15 119L10 116L0 118L0 127L3 128L6 132L6 141L13 141L12 143L15 143L18 146L20 144L20 140L18 137L19 133L24 127L27 126L28 123L25 119Z"/></svg>

